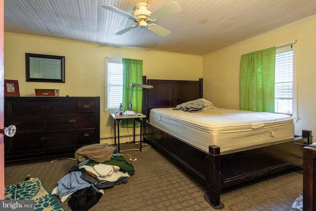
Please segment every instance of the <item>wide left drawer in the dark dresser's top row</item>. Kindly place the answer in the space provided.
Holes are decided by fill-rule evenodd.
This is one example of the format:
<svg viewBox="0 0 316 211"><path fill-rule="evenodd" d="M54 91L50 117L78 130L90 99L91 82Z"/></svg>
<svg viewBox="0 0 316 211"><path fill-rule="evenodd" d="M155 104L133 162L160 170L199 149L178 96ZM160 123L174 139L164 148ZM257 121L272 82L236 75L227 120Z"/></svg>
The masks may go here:
<svg viewBox="0 0 316 211"><path fill-rule="evenodd" d="M10 111L9 111L10 112ZM13 101L11 115L30 114L74 114L76 101Z"/></svg>

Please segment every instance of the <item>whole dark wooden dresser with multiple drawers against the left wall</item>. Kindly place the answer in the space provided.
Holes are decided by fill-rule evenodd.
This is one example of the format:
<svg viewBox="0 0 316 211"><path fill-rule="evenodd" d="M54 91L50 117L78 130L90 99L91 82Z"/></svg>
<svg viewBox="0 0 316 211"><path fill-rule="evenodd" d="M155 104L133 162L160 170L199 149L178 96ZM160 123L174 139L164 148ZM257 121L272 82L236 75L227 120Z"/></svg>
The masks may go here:
<svg viewBox="0 0 316 211"><path fill-rule="evenodd" d="M74 157L100 143L100 97L4 97L5 165Z"/></svg>

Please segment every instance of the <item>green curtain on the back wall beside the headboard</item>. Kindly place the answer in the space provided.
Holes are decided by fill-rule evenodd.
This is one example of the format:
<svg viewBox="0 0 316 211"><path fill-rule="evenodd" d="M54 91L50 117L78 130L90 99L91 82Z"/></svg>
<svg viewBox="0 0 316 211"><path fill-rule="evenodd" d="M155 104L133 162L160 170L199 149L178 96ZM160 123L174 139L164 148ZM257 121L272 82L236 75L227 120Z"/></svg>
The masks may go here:
<svg viewBox="0 0 316 211"><path fill-rule="evenodd" d="M128 110L128 104L130 103L130 97L132 94L131 83L141 84L143 77L143 60L137 59L122 59L123 63L123 111ZM134 87L132 96L132 110L137 113L142 113L142 99L143 90L139 87ZM122 120L121 127L133 127L133 120ZM140 124L136 122L136 127L140 127Z"/></svg>

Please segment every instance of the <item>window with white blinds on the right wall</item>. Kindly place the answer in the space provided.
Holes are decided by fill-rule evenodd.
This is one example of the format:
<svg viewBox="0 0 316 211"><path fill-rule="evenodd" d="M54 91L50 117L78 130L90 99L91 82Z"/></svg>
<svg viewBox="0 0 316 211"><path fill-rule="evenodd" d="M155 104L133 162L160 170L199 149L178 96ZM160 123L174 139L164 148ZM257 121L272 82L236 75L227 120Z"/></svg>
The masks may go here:
<svg viewBox="0 0 316 211"><path fill-rule="evenodd" d="M276 47L275 113L296 118L295 43Z"/></svg>

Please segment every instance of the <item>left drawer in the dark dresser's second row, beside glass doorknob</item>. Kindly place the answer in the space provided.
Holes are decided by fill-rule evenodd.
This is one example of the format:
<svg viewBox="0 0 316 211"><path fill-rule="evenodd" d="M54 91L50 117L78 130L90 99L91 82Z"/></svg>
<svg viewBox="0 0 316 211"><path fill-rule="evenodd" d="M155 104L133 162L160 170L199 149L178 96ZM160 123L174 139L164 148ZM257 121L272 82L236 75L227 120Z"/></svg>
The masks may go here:
<svg viewBox="0 0 316 211"><path fill-rule="evenodd" d="M15 125L17 132L44 130L44 116L4 117L4 125Z"/></svg>

